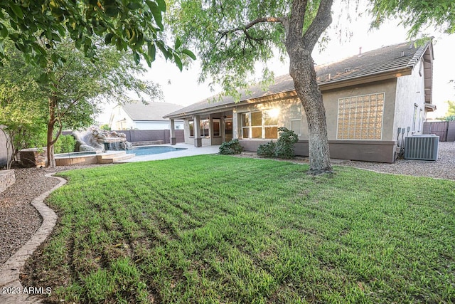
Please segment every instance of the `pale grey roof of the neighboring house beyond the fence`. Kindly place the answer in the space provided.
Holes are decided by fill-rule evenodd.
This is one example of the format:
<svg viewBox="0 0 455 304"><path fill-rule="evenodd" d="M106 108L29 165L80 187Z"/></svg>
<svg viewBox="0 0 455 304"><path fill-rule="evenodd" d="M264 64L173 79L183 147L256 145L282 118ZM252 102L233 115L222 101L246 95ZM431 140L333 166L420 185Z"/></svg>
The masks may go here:
<svg viewBox="0 0 455 304"><path fill-rule="evenodd" d="M127 112L129 117L134 121L160 121L166 120L164 115L175 112L183 108L182 105L175 105L173 103L154 103L149 104L141 103L140 101L133 103L125 103L122 106L123 110Z"/></svg>

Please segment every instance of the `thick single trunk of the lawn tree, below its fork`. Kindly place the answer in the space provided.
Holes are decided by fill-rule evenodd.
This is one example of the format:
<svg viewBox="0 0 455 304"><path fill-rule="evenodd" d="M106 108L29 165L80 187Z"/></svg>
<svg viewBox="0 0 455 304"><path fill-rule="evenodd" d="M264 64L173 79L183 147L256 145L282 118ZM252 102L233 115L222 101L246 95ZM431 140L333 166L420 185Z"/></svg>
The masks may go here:
<svg viewBox="0 0 455 304"><path fill-rule="evenodd" d="M326 109L322 93L316 82L314 61L309 51L299 48L289 56L291 58L289 73L294 80L297 96L306 113L309 131L310 174L333 172L328 150Z"/></svg>

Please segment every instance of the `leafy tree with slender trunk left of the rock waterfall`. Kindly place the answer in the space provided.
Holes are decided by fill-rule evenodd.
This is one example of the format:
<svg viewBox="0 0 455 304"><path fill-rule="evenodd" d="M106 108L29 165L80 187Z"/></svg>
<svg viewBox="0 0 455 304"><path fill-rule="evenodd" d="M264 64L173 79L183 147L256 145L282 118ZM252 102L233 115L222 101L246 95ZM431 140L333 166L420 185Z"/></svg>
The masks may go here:
<svg viewBox="0 0 455 304"><path fill-rule="evenodd" d="M48 53L65 56L64 63L48 60L45 69L52 70L42 79L42 90L48 99L47 152L48 165L54 166L53 145L63 127L72 130L87 127L103 100L129 102L134 92L143 100L156 98L161 91L154 83L139 78L144 68L134 62L132 53L99 46L97 61L90 61L71 41L59 43Z"/></svg>

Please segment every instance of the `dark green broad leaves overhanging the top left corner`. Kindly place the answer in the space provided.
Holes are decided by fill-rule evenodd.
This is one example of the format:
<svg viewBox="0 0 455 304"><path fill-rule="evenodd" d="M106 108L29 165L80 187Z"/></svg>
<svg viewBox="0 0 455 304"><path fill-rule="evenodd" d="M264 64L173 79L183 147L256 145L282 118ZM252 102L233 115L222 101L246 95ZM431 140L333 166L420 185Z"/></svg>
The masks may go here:
<svg viewBox="0 0 455 304"><path fill-rule="evenodd" d="M70 37L88 58L99 56L98 41L102 40L118 51L131 50L136 63L142 56L150 65L158 49L182 69L181 57L194 55L177 42L174 48L166 45L164 11L164 0L1 1L0 58L8 56L3 43L11 39L28 59L45 64L48 51ZM68 60L62 54L50 59L58 64Z"/></svg>

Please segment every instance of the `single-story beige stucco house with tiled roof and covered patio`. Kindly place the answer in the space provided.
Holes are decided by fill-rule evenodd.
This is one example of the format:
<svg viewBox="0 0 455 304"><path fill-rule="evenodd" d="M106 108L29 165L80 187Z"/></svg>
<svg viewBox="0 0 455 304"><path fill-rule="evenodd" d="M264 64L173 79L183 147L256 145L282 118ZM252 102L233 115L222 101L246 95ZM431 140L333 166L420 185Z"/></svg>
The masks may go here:
<svg viewBox="0 0 455 304"><path fill-rule="evenodd" d="M394 162L398 128L410 127L409 135L422 134L426 113L436 108L432 63L433 46L428 41L385 46L317 65L331 157ZM296 154L307 156L306 115L291 77L277 77L267 92L259 85L248 91L238 103L229 97L218 103L209 98L164 117L171 125L184 120L185 142L196 147L237 138L247 151L277 139L278 127L284 126L299 135Z"/></svg>

